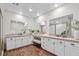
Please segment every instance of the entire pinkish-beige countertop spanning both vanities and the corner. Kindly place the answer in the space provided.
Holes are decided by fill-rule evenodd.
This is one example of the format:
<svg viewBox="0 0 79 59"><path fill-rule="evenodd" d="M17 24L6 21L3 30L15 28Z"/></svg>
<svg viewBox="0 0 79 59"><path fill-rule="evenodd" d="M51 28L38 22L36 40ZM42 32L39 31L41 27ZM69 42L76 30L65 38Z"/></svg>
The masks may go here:
<svg viewBox="0 0 79 59"><path fill-rule="evenodd" d="M49 34L23 34L23 35L7 34L7 35L5 35L5 38L10 38L10 37L25 37L25 36L38 36L38 37L45 37L45 38L50 38L50 39L56 39L56 40L63 40L63 41L69 41L69 42L77 42L77 43L79 43L79 40L75 39L75 38L57 37L55 35L49 35Z"/></svg>

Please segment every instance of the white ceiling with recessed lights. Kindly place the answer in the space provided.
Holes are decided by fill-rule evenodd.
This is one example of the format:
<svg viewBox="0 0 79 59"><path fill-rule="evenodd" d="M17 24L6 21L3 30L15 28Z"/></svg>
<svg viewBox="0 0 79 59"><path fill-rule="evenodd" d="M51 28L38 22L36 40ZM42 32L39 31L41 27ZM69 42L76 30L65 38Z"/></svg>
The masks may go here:
<svg viewBox="0 0 79 59"><path fill-rule="evenodd" d="M58 6L55 6L55 5ZM4 7L6 10L20 13L22 15L28 16L28 17L37 17L37 13L39 15L42 15L50 10L53 10L61 5L64 5L64 3L3 3L0 4L0 6ZM32 9L32 12L29 12L29 8Z"/></svg>

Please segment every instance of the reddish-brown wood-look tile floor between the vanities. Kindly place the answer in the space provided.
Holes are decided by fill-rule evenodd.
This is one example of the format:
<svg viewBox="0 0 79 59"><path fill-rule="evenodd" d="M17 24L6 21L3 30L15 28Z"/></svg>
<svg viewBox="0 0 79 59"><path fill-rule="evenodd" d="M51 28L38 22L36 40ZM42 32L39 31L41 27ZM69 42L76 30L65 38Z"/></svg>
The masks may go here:
<svg viewBox="0 0 79 59"><path fill-rule="evenodd" d="M5 51L4 56L54 56L53 54L34 45Z"/></svg>

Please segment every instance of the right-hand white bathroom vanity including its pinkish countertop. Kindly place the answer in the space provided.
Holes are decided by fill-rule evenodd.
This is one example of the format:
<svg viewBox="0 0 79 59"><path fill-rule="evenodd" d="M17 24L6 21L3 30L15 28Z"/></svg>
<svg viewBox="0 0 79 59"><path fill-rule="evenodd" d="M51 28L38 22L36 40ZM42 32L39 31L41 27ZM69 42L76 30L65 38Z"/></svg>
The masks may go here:
<svg viewBox="0 0 79 59"><path fill-rule="evenodd" d="M36 34L41 37L41 47L58 56L79 56L79 40L74 38L56 37Z"/></svg>

